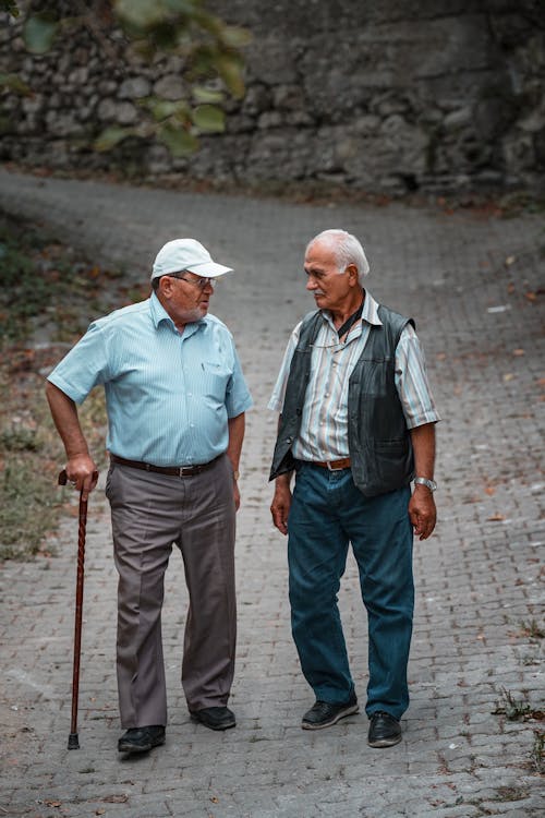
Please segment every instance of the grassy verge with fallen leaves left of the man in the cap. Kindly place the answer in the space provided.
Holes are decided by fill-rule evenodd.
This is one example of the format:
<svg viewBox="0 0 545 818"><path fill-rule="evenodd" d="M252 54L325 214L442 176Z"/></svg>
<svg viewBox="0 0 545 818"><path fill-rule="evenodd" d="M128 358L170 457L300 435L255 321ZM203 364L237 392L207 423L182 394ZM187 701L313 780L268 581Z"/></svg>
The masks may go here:
<svg viewBox="0 0 545 818"><path fill-rule="evenodd" d="M102 291L111 299L112 279L120 278L120 274L89 264L73 248L1 210L0 270L3 561L24 560L48 550L48 533L55 531L64 506L73 502L74 492L57 485L65 456L49 414L45 376L89 321L109 311ZM80 417L93 455L101 466L106 460L101 390L89 395Z"/></svg>

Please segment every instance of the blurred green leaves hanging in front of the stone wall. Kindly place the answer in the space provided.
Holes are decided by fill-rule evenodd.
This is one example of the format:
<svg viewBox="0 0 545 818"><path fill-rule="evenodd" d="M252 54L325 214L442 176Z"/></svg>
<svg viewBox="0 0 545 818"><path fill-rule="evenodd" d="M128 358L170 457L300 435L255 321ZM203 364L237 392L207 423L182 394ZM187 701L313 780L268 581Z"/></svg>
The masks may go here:
<svg viewBox="0 0 545 818"><path fill-rule="evenodd" d="M61 37L85 28L112 69L123 68L129 56L150 65L166 57L181 58L179 98L152 95L138 100L138 124L107 128L93 143L95 151L110 151L129 137L156 139L174 156L183 156L197 148L198 134L225 130L221 104L228 95L244 95L241 49L250 41L247 29L226 24L203 0L93 0L74 3L71 16L60 15L56 5L29 0L23 11L15 0L0 0L0 11L21 19L26 48L35 55L49 52ZM0 74L2 87L12 94L32 93L13 74Z"/></svg>

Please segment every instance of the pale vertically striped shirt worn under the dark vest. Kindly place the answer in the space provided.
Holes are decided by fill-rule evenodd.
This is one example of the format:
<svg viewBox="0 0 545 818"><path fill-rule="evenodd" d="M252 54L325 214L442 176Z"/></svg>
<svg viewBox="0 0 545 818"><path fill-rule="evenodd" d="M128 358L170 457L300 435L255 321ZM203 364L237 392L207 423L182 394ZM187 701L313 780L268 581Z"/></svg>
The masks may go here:
<svg viewBox="0 0 545 818"><path fill-rule="evenodd" d="M301 430L293 444L299 460L337 460L349 456L348 386L350 375L367 341L371 326L380 325L378 304L366 291L362 320L343 342L327 310L314 341L311 376L306 388ZM301 322L291 334L277 383L268 405L281 412L293 351L299 341ZM403 329L396 349L396 388L408 429L440 420L427 381L424 352L411 324Z"/></svg>

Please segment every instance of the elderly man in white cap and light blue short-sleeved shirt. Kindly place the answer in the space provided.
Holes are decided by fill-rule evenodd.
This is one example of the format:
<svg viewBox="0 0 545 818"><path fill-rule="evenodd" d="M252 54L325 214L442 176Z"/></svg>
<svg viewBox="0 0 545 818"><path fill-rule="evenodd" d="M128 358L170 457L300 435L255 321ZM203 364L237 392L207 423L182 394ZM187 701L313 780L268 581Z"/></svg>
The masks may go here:
<svg viewBox="0 0 545 818"><path fill-rule="evenodd" d="M116 566L120 753L165 743L164 577L172 544L190 603L182 685L191 717L235 725L227 707L234 670L234 531L244 412L252 399L231 333L208 313L217 264L194 239L170 241L153 267L150 298L94 321L48 377L47 398L66 476L86 497L97 468L77 416L106 393Z"/></svg>

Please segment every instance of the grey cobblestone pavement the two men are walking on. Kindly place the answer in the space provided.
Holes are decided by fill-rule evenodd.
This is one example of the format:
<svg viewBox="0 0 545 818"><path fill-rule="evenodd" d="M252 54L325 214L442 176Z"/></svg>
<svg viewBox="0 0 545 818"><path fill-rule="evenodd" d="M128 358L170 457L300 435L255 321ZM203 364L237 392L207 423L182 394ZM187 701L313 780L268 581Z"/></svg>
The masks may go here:
<svg viewBox="0 0 545 818"><path fill-rule="evenodd" d="M473 818L542 816L543 214L310 206L238 196L38 179L0 171L0 205L46 219L142 280L165 240L201 239L237 273L213 312L235 334L255 399L239 514L237 730L193 724L179 683L186 597L168 572L167 744L118 756L116 576L104 492L89 502L78 751L66 750L76 522L58 556L7 563L1 578L0 815L131 818ZM367 747L363 711L300 729L312 703L289 629L286 541L269 519L276 417L266 402L288 332L307 309L302 252L318 230L363 239L379 300L415 317L445 420L434 537L415 544L417 602L403 742ZM541 285L540 285L541 273ZM541 294L540 294L541 286ZM90 317L90 316L89 316ZM366 623L349 561L340 605L356 689Z"/></svg>

